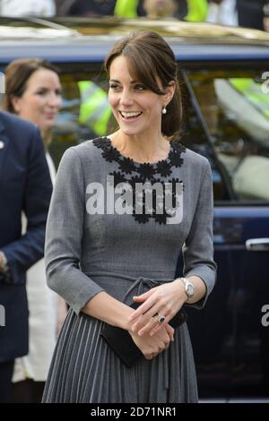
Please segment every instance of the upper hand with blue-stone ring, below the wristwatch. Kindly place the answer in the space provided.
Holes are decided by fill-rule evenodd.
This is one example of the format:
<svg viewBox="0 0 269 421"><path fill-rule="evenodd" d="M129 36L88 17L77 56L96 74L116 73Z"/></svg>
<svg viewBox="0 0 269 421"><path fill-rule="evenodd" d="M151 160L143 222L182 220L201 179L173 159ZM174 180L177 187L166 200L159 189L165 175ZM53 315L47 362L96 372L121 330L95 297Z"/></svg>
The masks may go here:
<svg viewBox="0 0 269 421"><path fill-rule="evenodd" d="M137 333L138 336L148 332L152 336L162 326L162 323L158 322L158 317L164 316L165 322L169 323L187 301L187 295L183 282L176 279L160 287L152 288L141 296L134 296L134 301L143 302L143 304L128 318L131 331Z"/></svg>

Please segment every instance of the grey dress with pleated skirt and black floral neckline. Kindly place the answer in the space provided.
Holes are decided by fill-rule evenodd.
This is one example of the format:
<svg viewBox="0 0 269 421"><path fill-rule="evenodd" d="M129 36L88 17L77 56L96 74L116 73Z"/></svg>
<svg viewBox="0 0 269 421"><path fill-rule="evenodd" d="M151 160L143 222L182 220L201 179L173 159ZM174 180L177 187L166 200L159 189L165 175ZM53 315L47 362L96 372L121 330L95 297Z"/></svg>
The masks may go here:
<svg viewBox="0 0 269 421"><path fill-rule="evenodd" d="M182 276L204 280L206 296L194 305L202 308L215 281L212 225L210 165L179 142L155 164L127 159L107 137L65 151L48 213L45 260L48 286L70 308L43 402L198 400L186 322L167 350L127 368L100 337L105 323L81 309L103 290L131 305L134 295L175 279L179 253Z"/></svg>

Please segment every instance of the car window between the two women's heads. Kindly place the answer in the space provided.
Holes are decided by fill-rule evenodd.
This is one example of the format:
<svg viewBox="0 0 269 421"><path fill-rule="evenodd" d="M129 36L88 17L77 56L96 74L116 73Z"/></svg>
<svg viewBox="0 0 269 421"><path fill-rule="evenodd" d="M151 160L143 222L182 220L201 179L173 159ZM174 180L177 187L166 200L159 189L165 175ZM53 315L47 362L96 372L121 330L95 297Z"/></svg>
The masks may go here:
<svg viewBox="0 0 269 421"><path fill-rule="evenodd" d="M105 73L62 69L60 80L63 103L49 145L56 167L68 147L106 135L115 125Z"/></svg>

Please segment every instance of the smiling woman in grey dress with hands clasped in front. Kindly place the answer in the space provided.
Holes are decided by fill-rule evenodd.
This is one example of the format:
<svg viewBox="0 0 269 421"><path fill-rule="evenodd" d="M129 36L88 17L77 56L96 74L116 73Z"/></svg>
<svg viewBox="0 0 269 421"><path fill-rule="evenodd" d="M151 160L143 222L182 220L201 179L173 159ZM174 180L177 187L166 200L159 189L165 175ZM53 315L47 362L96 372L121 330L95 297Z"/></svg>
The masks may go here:
<svg viewBox="0 0 269 421"><path fill-rule="evenodd" d="M65 151L48 215L48 285L70 310L43 401L196 402L187 323L169 322L213 289L211 168L178 142L177 65L164 39L131 34L105 66L119 128ZM175 279L179 253L185 278ZM106 323L128 332L143 353L136 365L102 338Z"/></svg>

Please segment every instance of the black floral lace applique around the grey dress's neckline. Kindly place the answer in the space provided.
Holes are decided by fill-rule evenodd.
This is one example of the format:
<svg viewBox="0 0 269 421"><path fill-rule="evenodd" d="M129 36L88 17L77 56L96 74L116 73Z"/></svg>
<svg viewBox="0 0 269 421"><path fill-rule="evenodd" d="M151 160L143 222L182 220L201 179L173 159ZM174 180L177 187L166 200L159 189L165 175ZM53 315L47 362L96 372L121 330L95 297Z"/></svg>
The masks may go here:
<svg viewBox="0 0 269 421"><path fill-rule="evenodd" d="M176 191L176 185L181 184L182 191L184 185L178 178L171 178L169 180L163 180L162 177L169 177L172 174L172 167L179 168L183 165L184 159L181 158L181 154L186 152L186 148L177 141L170 142L171 148L169 151L169 157L163 159L156 164L150 163L136 163L133 159L126 158L120 154L120 152L111 144L107 137L100 137L94 139L93 144L102 150L101 154L104 159L108 162L117 162L118 171L109 173L109 176L113 176L114 187L119 183L127 183L131 185L133 189L132 203L126 203L133 206L132 216L134 220L139 223L146 223L150 219L154 219L159 224L166 224L167 219L171 218L165 209L165 196L172 194L172 207L173 209L178 206L178 195ZM157 176L157 177L156 177ZM140 183L145 186L143 193L139 195L136 190L136 185ZM162 186L162 193L157 194L155 189L152 190L152 209L148 207L145 200L145 194L147 193L146 183L151 186L155 183L160 183ZM165 192L166 184L171 185L171 192ZM137 202L137 197L139 202ZM136 204L135 204L136 202Z"/></svg>

